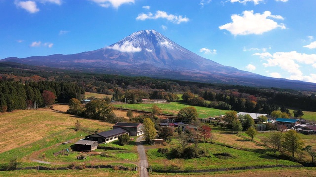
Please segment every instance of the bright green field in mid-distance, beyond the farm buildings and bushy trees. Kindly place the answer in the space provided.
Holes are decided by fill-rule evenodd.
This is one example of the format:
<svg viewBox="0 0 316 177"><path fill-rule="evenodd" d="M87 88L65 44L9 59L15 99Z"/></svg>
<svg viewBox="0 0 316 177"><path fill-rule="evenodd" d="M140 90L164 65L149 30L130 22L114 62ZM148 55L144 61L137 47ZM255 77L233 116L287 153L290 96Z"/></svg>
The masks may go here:
<svg viewBox="0 0 316 177"><path fill-rule="evenodd" d="M166 114L174 114L177 115L178 112L185 107L194 107L197 109L197 113L199 118L209 118L213 116L219 116L221 114L225 114L227 110L218 110L214 108L206 108L200 106L190 106L183 103L176 103L170 102L169 104L156 104L159 108L162 109L163 113ZM115 107L123 107L123 108L130 108L130 109L137 109L137 110L144 110L144 111L152 111L151 108L153 104L118 104L113 105Z"/></svg>

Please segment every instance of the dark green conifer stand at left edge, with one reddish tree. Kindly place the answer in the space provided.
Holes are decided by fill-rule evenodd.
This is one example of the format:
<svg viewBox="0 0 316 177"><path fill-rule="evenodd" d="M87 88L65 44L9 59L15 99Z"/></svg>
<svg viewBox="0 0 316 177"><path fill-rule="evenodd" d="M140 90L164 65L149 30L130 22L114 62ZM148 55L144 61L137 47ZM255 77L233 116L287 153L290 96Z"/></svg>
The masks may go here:
<svg viewBox="0 0 316 177"><path fill-rule="evenodd" d="M0 80L0 112L17 109L37 109L57 103L68 103L71 98L83 98L84 90L68 82L21 82Z"/></svg>

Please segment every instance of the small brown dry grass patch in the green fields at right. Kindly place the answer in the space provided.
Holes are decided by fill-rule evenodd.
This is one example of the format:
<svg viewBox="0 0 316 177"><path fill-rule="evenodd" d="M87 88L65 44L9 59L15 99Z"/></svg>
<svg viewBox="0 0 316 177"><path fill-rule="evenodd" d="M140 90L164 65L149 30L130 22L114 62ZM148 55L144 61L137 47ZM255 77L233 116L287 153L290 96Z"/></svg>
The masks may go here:
<svg viewBox="0 0 316 177"><path fill-rule="evenodd" d="M218 138L216 142L224 143L237 148L247 148L247 149L265 149L264 146L260 146L252 141L245 140L234 134L226 133L214 133Z"/></svg>

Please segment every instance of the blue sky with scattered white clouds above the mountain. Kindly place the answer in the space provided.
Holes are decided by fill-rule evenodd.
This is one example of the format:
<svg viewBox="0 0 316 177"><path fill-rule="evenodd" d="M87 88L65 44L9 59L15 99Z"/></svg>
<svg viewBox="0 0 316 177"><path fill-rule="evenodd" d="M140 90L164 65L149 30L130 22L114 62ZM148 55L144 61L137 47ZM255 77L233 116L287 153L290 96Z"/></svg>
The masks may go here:
<svg viewBox="0 0 316 177"><path fill-rule="evenodd" d="M0 59L91 51L154 29L223 65L316 83L315 7L316 0L0 0Z"/></svg>

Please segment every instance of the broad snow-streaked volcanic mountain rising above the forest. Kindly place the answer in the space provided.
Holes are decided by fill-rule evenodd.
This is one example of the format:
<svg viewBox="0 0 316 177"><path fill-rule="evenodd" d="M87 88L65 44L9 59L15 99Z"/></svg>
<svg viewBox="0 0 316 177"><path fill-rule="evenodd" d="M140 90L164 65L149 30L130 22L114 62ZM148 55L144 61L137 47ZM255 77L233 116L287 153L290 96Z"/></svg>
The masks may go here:
<svg viewBox="0 0 316 177"><path fill-rule="evenodd" d="M94 51L9 57L0 61L105 74L316 90L315 83L265 77L221 65L181 47L155 30L137 31Z"/></svg>

